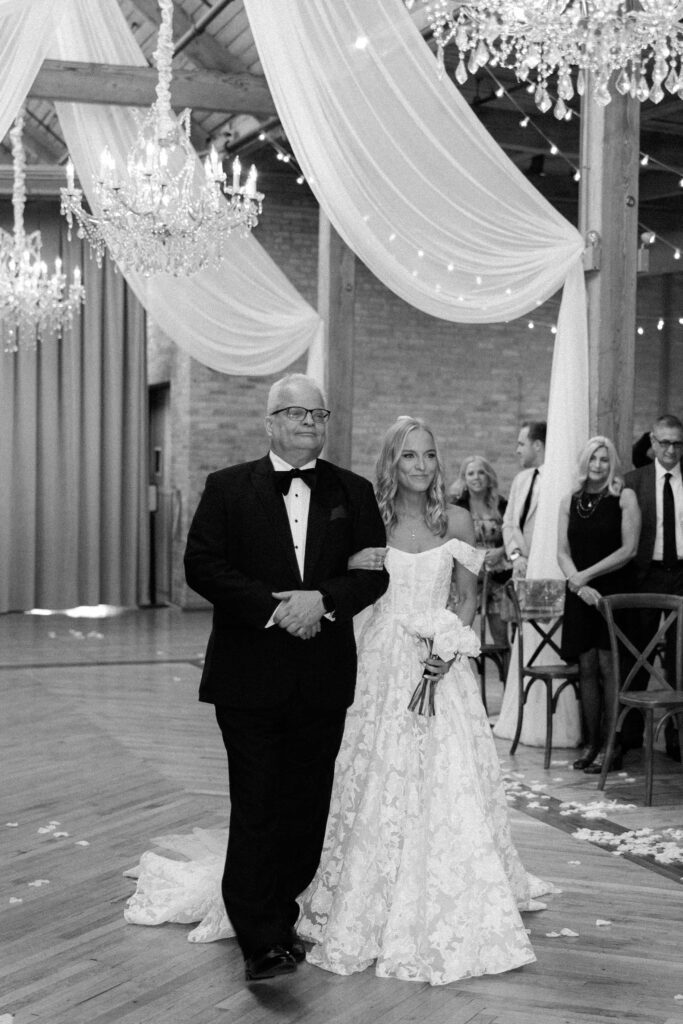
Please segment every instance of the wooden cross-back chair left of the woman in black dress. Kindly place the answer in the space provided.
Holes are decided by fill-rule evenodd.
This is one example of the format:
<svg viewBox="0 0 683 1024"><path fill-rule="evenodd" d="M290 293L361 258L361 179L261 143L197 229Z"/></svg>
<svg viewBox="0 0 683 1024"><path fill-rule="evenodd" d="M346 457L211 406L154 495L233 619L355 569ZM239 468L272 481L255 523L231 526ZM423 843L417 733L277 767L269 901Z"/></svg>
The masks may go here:
<svg viewBox="0 0 683 1024"><path fill-rule="evenodd" d="M517 641L519 673L517 727L510 754L517 750L524 721L524 708L532 686L541 682L546 687L546 746L544 768L550 767L553 749L553 715L560 694L567 687L579 699L579 666L562 660L558 633L564 611L563 580L510 580L506 591L513 608L513 627ZM533 629L535 646L529 651L524 637L524 625ZM549 655L553 660L545 660ZM558 685L559 684L559 685Z"/></svg>

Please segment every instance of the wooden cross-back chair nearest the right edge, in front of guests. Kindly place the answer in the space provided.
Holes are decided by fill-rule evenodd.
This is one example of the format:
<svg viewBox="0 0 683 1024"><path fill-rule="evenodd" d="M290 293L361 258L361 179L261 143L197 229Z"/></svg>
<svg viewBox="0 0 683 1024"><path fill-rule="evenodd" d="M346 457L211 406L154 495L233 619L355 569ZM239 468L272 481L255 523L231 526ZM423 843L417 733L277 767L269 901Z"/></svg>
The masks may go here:
<svg viewBox="0 0 683 1024"><path fill-rule="evenodd" d="M674 719L678 725L678 735L683 749L683 597L671 594L613 594L603 597L598 605L607 621L612 671L617 681L614 687L613 706L608 710L608 737L605 759L600 773L598 788L604 790L607 771L614 750L614 737L630 709L640 712L644 718L645 758L645 804L652 804L652 773L654 765L654 743L664 724ZM639 650L633 637L627 636L614 621L618 612L638 612L652 609L660 611L659 628L648 643ZM667 680L663 673L661 651L671 631L676 630L675 678ZM640 672L648 672L650 680L658 686L647 690L632 690L631 686ZM654 725L655 712L661 717Z"/></svg>

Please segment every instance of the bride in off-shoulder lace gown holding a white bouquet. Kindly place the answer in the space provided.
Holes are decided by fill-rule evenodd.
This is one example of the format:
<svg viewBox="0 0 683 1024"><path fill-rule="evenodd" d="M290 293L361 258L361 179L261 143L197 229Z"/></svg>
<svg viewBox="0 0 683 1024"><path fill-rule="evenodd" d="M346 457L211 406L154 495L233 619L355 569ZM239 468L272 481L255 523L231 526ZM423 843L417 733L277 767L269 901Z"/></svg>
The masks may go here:
<svg viewBox="0 0 683 1024"><path fill-rule="evenodd" d="M447 984L535 959L519 909L548 887L512 844L500 765L468 654L482 553L449 506L434 435L401 417L377 462L389 588L358 637L325 849L301 897L311 964ZM384 557L386 554L386 558ZM456 564L456 612L446 610ZM416 686L416 684L418 684Z"/></svg>

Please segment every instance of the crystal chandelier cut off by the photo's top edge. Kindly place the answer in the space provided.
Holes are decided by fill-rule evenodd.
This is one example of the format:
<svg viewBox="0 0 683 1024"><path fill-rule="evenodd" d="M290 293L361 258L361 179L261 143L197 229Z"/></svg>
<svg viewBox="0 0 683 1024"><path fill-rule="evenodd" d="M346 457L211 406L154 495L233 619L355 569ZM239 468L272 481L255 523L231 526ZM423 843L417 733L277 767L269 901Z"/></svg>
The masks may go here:
<svg viewBox="0 0 683 1024"><path fill-rule="evenodd" d="M680 0L431 0L426 7L441 68L443 48L455 43L461 85L484 65L510 68L535 84L541 111L554 103L557 118L574 95L574 69L577 92L584 94L590 74L601 105L612 88L641 101L658 103L665 89L683 98L681 11Z"/></svg>

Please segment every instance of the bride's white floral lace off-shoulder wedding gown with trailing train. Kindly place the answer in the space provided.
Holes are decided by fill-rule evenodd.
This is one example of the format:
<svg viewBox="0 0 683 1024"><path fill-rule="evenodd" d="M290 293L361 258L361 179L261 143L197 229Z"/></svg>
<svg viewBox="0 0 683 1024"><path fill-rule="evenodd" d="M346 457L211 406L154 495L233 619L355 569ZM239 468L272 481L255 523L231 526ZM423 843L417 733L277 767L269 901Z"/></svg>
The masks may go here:
<svg viewBox="0 0 683 1024"><path fill-rule="evenodd" d="M408 710L424 645L402 623L445 606L461 541L419 554L390 548L390 585L358 639L356 695L337 759L325 849L301 897L311 964L443 985L532 963L520 909L554 891L526 873L512 843L490 727L469 660L436 689L433 717ZM233 934L220 896L226 834L196 829L143 855L126 919L199 922L194 941Z"/></svg>

